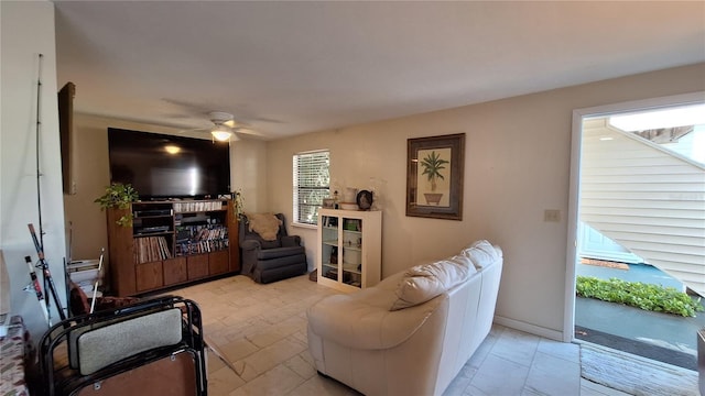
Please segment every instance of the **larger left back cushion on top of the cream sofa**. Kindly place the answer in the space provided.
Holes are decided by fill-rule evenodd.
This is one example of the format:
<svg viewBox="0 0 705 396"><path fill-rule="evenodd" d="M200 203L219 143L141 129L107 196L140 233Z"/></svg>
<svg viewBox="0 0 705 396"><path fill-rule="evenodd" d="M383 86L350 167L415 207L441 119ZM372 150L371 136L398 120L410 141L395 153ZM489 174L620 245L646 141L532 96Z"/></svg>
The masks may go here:
<svg viewBox="0 0 705 396"><path fill-rule="evenodd" d="M476 270L469 257L457 255L409 268L399 282L389 310L423 304L465 282Z"/></svg>

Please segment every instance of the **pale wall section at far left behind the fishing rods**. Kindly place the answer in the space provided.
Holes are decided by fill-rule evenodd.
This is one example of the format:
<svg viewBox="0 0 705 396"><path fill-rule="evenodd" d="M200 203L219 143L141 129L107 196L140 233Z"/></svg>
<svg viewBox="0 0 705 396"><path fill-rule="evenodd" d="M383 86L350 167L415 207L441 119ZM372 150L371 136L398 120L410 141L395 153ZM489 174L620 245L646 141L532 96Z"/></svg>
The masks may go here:
<svg viewBox="0 0 705 396"><path fill-rule="evenodd" d="M12 315L21 315L33 340L39 341L47 324L36 296L23 290L30 283L24 256L31 256L33 263L37 261L28 223L33 223L40 231L35 145L37 76L42 81L39 90L39 167L44 254L62 305L65 307L66 302L54 4L48 1L0 1L0 250L8 267ZM41 74L39 54L43 55ZM52 306L55 308L53 300ZM55 309L52 317L56 323L58 312Z"/></svg>

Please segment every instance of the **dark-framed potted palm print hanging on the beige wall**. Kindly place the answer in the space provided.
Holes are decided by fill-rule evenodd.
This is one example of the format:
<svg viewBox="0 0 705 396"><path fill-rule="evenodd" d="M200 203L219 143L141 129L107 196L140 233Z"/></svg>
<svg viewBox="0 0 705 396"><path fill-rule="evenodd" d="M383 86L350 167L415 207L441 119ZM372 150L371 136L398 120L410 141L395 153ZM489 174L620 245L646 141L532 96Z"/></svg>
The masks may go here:
<svg viewBox="0 0 705 396"><path fill-rule="evenodd" d="M463 220L465 133L406 140L406 216Z"/></svg>

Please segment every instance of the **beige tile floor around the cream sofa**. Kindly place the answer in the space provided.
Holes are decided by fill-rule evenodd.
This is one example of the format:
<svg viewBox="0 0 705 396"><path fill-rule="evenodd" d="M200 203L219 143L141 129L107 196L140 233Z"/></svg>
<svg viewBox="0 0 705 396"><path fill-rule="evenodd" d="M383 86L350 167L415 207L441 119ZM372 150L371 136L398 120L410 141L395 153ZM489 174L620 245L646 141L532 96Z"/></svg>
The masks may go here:
<svg viewBox="0 0 705 396"><path fill-rule="evenodd" d="M307 276L269 285L232 276L171 292L203 311L215 350L209 395L359 395L317 375L306 346L306 309L337 293ZM581 378L577 344L495 326L445 395L625 394Z"/></svg>

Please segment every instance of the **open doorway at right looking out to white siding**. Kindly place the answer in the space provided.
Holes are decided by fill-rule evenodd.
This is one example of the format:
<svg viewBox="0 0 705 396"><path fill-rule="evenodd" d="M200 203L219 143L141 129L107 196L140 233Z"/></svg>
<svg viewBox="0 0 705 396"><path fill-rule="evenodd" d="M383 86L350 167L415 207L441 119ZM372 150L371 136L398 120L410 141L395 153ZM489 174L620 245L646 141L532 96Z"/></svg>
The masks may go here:
<svg viewBox="0 0 705 396"><path fill-rule="evenodd" d="M566 334L695 370L705 312L576 297L575 282L615 277L705 294L705 120L654 117L695 109L702 118L705 108L694 106L704 103L698 94L574 112ZM628 118L649 121L619 123Z"/></svg>

